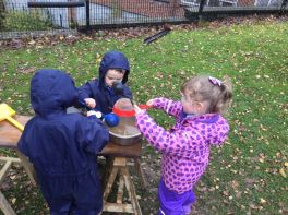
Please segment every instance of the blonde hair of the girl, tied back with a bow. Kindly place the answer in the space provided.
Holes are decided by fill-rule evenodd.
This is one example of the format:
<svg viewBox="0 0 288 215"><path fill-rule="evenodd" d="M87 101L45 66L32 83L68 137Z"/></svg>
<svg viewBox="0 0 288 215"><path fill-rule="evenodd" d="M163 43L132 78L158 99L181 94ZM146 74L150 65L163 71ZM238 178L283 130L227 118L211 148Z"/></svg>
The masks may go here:
<svg viewBox="0 0 288 215"><path fill-rule="evenodd" d="M208 75L199 75L187 81L181 92L195 101L206 101L206 114L225 112L232 98L232 86L230 79L225 77L224 82Z"/></svg>

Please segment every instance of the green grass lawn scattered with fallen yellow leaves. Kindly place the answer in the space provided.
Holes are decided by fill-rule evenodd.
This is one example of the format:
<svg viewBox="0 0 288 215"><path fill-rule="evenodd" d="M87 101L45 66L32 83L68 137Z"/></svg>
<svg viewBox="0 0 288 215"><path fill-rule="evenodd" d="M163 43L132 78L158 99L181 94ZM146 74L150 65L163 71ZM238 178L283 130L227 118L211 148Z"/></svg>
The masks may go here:
<svg viewBox="0 0 288 215"><path fill-rule="evenodd" d="M82 39L74 45L35 46L0 52L0 101L19 114L33 114L29 80L36 69L65 70L76 85L97 76L95 56L118 49L131 62L129 85L139 103L156 96L179 98L180 85L191 75L229 75L233 103L227 119L231 131L221 147L212 147L211 165L196 184L193 214L284 214L288 210L288 23L255 22L219 28L177 29L146 46L143 38ZM151 111L169 128L172 120ZM143 214L157 214L159 155L144 144L142 162L149 189L137 190ZM1 151L2 154L8 152ZM139 182L139 181L137 181ZM139 186L137 186L139 187ZM5 191L20 198L20 186ZM40 194L37 195L43 203ZM38 214L29 196L13 205L19 214ZM35 198L35 196L34 196ZM147 206L152 205L152 206ZM29 212L29 213L28 213Z"/></svg>

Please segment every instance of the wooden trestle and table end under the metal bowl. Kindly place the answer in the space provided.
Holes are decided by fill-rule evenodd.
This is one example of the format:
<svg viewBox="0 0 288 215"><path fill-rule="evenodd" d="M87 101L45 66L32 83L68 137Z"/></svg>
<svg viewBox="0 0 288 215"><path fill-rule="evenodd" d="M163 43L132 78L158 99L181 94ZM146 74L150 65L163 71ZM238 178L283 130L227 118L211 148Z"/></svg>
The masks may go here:
<svg viewBox="0 0 288 215"><path fill-rule="evenodd" d="M104 189L104 212L118 212L118 213L133 213L142 215L139 201L136 198L136 192L134 183L131 180L129 171L129 159L134 160L136 170L140 176L141 186L143 189L146 188L146 180L144 172L141 168L140 157L141 157L141 142L134 143L132 145L118 145L109 143L105 146L99 155L110 157L108 162L107 177L105 177L105 189ZM111 193L112 186L116 184L117 175L119 175L119 186L117 191L117 200L111 203L108 202L108 196ZM131 203L123 203L124 189L128 191L129 200Z"/></svg>

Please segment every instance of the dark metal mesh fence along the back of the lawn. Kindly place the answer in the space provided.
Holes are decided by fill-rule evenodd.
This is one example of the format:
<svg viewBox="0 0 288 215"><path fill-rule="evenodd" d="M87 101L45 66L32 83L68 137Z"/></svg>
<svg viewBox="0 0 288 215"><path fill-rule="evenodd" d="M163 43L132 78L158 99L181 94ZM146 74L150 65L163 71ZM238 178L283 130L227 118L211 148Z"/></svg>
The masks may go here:
<svg viewBox="0 0 288 215"><path fill-rule="evenodd" d="M209 13L287 11L287 0L0 0L5 32L79 31L188 22Z"/></svg>

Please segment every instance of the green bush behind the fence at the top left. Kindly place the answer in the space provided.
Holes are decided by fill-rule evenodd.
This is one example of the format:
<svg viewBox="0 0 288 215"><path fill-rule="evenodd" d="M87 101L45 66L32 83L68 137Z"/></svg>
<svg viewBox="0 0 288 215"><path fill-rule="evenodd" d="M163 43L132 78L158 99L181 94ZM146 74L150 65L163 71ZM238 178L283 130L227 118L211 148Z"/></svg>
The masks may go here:
<svg viewBox="0 0 288 215"><path fill-rule="evenodd" d="M52 28L51 20L38 11L9 11L5 12L3 28L5 31L44 31Z"/></svg>

